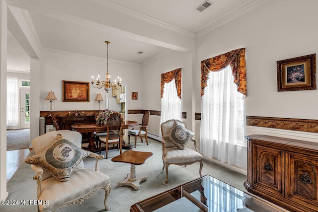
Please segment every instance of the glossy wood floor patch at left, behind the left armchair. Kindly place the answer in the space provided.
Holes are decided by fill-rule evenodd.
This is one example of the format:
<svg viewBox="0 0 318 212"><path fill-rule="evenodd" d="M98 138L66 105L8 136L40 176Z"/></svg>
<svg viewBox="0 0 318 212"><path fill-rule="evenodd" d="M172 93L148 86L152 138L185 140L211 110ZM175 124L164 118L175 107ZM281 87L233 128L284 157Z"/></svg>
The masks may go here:
<svg viewBox="0 0 318 212"><path fill-rule="evenodd" d="M6 182L12 177L24 159L30 153L28 148L6 151Z"/></svg>

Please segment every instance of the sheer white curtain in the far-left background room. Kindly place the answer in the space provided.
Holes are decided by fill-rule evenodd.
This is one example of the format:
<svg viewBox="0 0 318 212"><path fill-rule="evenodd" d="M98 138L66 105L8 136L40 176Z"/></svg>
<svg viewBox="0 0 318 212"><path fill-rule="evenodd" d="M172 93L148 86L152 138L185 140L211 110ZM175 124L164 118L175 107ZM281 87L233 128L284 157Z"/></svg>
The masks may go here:
<svg viewBox="0 0 318 212"><path fill-rule="evenodd" d="M18 79L6 78L6 126L17 126L18 121Z"/></svg>

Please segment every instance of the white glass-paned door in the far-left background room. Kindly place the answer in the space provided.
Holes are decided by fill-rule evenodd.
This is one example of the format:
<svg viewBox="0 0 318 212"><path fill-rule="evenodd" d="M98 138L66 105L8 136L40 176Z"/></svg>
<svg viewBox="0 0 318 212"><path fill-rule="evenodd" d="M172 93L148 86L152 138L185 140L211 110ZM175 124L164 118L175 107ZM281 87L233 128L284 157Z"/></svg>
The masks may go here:
<svg viewBox="0 0 318 212"><path fill-rule="evenodd" d="M30 90L20 90L20 129L30 128Z"/></svg>

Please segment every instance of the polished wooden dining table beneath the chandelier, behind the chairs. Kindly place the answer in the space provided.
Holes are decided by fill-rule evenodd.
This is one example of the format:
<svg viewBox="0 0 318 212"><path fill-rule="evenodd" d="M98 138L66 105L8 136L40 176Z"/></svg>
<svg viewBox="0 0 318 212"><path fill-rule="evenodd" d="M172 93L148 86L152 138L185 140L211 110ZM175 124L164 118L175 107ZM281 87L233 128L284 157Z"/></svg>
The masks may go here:
<svg viewBox="0 0 318 212"><path fill-rule="evenodd" d="M133 128L133 127L138 127L139 124L138 122L135 121L124 121L122 125L122 130L128 129L128 128ZM95 145L95 137L94 133L96 131L101 132L101 131L107 131L107 125L103 124L96 124L96 123L78 123L74 124L71 126L72 131L77 131L79 133L89 133L89 140L88 140L88 146L87 147L82 147L85 150L92 151L92 152L97 152L99 149ZM122 143L122 148L127 148L131 149L130 145L125 145L125 141Z"/></svg>

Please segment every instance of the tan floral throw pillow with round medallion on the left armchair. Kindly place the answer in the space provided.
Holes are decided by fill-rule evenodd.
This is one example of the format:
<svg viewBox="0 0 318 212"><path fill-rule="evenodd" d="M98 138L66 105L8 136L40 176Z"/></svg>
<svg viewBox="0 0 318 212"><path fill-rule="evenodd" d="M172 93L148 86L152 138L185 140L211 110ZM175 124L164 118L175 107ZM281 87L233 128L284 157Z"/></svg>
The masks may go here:
<svg viewBox="0 0 318 212"><path fill-rule="evenodd" d="M56 140L50 146L44 151L26 158L25 162L41 166L59 181L66 182L70 180L71 174L80 161L89 154L90 152L80 149L71 141L63 138L61 134L58 134Z"/></svg>

